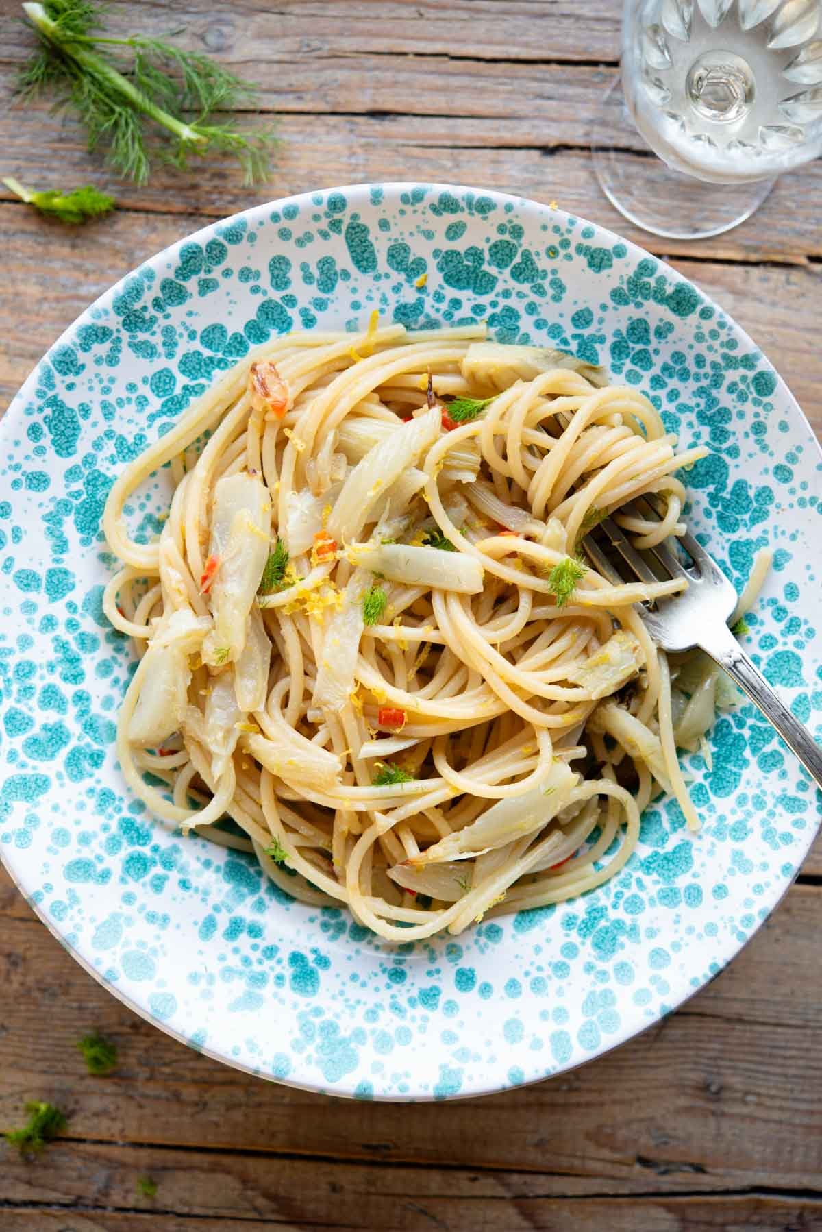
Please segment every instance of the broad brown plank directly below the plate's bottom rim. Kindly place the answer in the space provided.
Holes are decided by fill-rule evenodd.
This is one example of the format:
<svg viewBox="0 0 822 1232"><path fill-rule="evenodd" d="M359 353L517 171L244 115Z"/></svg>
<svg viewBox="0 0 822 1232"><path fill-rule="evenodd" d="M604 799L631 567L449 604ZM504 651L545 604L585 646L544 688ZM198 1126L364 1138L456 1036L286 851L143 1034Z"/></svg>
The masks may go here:
<svg viewBox="0 0 822 1232"><path fill-rule="evenodd" d="M796 887L679 1013L582 1069L484 1098L471 1112L458 1103L361 1104L249 1079L143 1023L44 929L5 919L0 1125L14 1125L26 1099L44 1098L70 1115L73 1138L547 1168L622 1194L810 1190L822 1173L818 904L816 887ZM91 1027L118 1045L111 1078L83 1071L74 1041Z"/></svg>

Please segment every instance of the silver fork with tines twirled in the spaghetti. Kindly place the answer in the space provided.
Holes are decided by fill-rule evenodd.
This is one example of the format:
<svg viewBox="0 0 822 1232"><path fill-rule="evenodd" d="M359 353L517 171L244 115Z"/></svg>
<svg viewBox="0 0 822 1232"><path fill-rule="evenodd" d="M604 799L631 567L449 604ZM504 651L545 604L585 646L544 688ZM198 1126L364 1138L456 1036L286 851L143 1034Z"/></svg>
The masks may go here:
<svg viewBox="0 0 822 1232"><path fill-rule="evenodd" d="M659 582L659 574L651 569L647 559L636 551L612 517L606 517L600 526L622 563L637 578L642 582ZM737 604L733 583L693 535L680 535L678 541L693 561L690 569L684 568L664 543L647 551L647 556L654 558L668 578L684 578L688 582L688 589L683 593L657 600L653 609L640 609L648 632L663 650L678 653L700 647L710 654L759 707L768 722L773 723L789 749L822 787L822 747L815 743L808 729L779 700L727 626ZM582 546L598 573L615 582L626 580L621 569L614 567L590 535L583 540Z"/></svg>

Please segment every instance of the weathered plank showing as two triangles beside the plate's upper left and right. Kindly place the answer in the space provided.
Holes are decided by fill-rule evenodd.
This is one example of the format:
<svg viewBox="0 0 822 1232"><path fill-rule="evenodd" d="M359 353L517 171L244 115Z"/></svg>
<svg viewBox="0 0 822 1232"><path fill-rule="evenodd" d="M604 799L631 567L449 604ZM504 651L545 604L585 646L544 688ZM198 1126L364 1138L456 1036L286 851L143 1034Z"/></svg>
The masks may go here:
<svg viewBox="0 0 822 1232"><path fill-rule="evenodd" d="M0 233L7 251L0 296L0 394L6 402L43 351L101 291L203 222L193 214L121 212L91 230L65 230L23 206L0 206ZM683 259L674 265L700 282L752 334L774 359L812 424L822 429L822 357L816 345L822 317L821 270ZM797 304L802 306L805 329L796 328Z"/></svg>

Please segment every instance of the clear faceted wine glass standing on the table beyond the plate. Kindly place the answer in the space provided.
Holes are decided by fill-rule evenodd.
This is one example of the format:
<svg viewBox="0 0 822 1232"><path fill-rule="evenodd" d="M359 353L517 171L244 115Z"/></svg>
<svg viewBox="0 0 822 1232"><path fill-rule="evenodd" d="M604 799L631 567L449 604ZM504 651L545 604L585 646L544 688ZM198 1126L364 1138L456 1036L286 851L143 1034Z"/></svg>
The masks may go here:
<svg viewBox="0 0 822 1232"><path fill-rule="evenodd" d="M645 230L736 227L822 153L822 0L625 0L622 80L592 145L605 195Z"/></svg>

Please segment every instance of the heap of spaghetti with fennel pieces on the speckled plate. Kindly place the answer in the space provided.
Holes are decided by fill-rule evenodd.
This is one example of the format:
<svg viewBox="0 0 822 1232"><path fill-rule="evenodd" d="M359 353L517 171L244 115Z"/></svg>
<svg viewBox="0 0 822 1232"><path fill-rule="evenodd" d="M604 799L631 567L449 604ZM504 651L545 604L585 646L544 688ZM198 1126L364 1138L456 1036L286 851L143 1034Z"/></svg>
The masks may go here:
<svg viewBox="0 0 822 1232"><path fill-rule="evenodd" d="M131 790L397 941L601 885L659 788L696 828L690 701L635 607L684 583L578 556L646 493L664 516L622 510L635 542L682 533L675 472L706 451L675 445L636 389L482 329L375 314L258 349L108 496ZM126 505L161 468L140 543Z"/></svg>

